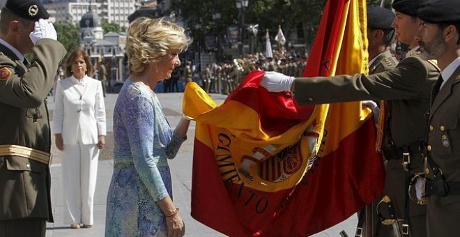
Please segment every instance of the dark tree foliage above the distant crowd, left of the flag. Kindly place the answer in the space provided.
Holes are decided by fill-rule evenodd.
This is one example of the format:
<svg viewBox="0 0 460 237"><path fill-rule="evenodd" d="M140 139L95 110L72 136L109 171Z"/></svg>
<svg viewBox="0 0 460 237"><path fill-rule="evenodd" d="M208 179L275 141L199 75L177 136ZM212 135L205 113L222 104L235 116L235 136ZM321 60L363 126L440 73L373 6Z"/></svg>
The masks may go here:
<svg viewBox="0 0 460 237"><path fill-rule="evenodd" d="M259 24L259 45L265 42L265 30L269 29L273 38L278 26L282 26L288 40L289 36L295 33L302 40L297 43L310 45L314 40L324 5L324 0L249 0L245 24ZM225 26L240 25L241 15L236 8L235 0L173 0L171 10L180 12L185 24L190 28L201 21L201 31L205 33L224 33ZM221 13L220 22L212 19L213 13ZM192 33L194 32L196 31L192 30ZM249 33L245 33L245 36L249 37Z"/></svg>

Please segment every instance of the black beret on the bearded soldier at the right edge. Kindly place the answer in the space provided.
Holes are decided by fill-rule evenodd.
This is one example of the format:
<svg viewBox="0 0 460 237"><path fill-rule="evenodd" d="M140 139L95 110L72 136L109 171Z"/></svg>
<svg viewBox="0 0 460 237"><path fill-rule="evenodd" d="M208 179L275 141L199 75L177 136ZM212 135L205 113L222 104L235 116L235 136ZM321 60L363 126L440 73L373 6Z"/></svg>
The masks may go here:
<svg viewBox="0 0 460 237"><path fill-rule="evenodd" d="M459 0L427 0L420 4L417 16L429 23L459 23Z"/></svg>

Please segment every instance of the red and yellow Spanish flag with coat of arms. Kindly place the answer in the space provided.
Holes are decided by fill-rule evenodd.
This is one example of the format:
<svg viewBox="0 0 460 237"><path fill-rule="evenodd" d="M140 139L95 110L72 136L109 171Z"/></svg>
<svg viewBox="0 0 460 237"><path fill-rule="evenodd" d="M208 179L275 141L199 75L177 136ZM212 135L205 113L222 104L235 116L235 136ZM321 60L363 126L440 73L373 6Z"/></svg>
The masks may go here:
<svg viewBox="0 0 460 237"><path fill-rule="evenodd" d="M305 75L367 68L365 9L328 1ZM309 236L381 194L370 111L299 106L261 87L263 75L250 72L221 105L187 84L183 112L197 121L192 217L228 236Z"/></svg>

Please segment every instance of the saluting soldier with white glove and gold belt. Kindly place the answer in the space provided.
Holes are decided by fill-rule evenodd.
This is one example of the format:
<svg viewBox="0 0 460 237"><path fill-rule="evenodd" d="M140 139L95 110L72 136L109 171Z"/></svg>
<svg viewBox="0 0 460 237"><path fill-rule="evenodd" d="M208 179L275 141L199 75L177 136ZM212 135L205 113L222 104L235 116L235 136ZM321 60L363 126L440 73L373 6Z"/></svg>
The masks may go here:
<svg viewBox="0 0 460 237"><path fill-rule="evenodd" d="M45 236L53 221L46 98L66 49L47 18L38 0L1 9L0 236Z"/></svg>

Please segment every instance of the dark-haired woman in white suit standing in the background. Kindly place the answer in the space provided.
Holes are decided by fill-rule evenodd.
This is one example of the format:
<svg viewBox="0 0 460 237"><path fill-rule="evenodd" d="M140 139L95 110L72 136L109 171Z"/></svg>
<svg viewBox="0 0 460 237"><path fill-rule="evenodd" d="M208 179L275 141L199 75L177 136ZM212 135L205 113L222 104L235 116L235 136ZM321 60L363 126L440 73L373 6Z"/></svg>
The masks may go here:
<svg viewBox="0 0 460 237"><path fill-rule="evenodd" d="M62 151L64 223L72 229L93 225L93 197L99 149L105 145L102 86L89 56L77 49L66 61L66 79L56 86L54 135Z"/></svg>

